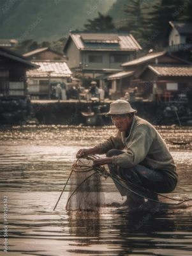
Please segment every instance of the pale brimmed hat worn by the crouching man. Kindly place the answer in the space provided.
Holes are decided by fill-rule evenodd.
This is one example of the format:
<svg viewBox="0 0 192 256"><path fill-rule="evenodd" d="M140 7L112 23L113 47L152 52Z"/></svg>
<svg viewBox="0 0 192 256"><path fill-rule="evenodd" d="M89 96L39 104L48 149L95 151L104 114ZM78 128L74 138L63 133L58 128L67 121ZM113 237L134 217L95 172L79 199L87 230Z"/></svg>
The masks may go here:
<svg viewBox="0 0 192 256"><path fill-rule="evenodd" d="M128 113L137 113L137 110L131 108L131 105L126 100L115 100L110 104L110 110L106 116L123 115Z"/></svg>

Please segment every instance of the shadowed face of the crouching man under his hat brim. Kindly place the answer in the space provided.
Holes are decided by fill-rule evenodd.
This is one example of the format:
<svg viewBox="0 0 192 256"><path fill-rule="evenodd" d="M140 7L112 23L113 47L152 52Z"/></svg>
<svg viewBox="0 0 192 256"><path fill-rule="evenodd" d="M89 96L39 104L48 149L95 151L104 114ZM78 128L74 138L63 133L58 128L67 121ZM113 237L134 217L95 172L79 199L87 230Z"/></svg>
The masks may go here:
<svg viewBox="0 0 192 256"><path fill-rule="evenodd" d="M129 116L113 115L112 122L120 132L126 132L132 122L132 118Z"/></svg>

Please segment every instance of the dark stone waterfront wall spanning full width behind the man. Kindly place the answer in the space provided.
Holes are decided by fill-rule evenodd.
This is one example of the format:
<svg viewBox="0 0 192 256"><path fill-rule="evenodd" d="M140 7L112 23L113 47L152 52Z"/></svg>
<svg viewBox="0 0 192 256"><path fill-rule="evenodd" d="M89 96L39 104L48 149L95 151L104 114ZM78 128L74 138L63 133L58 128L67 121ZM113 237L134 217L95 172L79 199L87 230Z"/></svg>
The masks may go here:
<svg viewBox="0 0 192 256"><path fill-rule="evenodd" d="M1 100L0 119L1 124L8 125L110 125L110 118L106 118L105 113L108 112L111 102L112 100ZM190 102L166 102L159 105L155 102L131 102L131 106L137 109L138 116L154 125L192 125ZM82 112L87 113L87 116L82 115Z"/></svg>

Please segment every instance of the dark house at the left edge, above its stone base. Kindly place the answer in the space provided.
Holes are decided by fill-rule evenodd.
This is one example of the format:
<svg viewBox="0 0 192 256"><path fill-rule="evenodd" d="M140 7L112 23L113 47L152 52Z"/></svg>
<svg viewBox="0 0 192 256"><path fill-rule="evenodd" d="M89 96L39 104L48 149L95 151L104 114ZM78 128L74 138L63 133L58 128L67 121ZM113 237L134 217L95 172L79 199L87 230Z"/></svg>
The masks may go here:
<svg viewBox="0 0 192 256"><path fill-rule="evenodd" d="M26 70L36 68L34 63L13 51L0 47L0 97L25 98Z"/></svg>

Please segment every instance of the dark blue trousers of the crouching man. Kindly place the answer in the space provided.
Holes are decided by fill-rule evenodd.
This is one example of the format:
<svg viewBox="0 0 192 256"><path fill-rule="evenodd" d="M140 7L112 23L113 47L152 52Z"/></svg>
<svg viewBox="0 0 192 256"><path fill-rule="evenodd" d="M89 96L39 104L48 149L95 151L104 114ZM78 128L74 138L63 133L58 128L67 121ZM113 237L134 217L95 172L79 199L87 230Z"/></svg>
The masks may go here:
<svg viewBox="0 0 192 256"><path fill-rule="evenodd" d="M107 152L107 157L118 156L123 153L122 150L112 149ZM125 186L128 186L129 189L133 189L133 191L137 191L138 193L142 192L143 195L154 199L156 199L157 196L153 192L168 193L174 190L170 188L167 180L168 177L163 173L163 170L152 170L141 164L137 164L130 168L122 168L117 166L117 164L108 164L108 168L115 186L122 196L129 193L129 190L126 189ZM127 181L127 183L122 182L123 185L119 184L119 182L121 182L121 180L118 180L119 178ZM134 185L138 185L138 187ZM142 188L149 189L150 192L147 192Z"/></svg>

